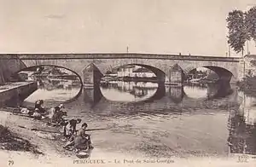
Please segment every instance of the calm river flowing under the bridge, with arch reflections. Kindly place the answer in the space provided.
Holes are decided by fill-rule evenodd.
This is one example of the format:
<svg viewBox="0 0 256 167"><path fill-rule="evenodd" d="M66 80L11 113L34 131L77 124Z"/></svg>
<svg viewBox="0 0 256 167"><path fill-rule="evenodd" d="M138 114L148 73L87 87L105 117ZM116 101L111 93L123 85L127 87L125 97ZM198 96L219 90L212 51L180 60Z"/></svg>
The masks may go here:
<svg viewBox="0 0 256 167"><path fill-rule="evenodd" d="M24 104L43 99L46 107L54 107L80 90L72 81L40 82ZM82 118L90 129L109 128L91 131L94 147L148 158L188 158L256 155L255 105L255 97L230 84L112 82L83 88L65 110L68 118Z"/></svg>

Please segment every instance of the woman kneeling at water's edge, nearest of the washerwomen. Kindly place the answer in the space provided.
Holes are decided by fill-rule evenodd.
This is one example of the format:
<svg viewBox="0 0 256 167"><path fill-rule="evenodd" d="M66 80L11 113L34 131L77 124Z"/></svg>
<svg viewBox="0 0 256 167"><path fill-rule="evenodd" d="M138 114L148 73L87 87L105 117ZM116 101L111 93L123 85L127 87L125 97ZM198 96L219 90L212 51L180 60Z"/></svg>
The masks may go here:
<svg viewBox="0 0 256 167"><path fill-rule="evenodd" d="M70 141L67 141L67 144L64 146L64 148L74 145L74 148L76 151L84 150L84 149L92 149L91 141L90 141L90 135L86 134L86 128L87 124L82 124L82 128L78 131L76 135L73 135L70 139Z"/></svg>

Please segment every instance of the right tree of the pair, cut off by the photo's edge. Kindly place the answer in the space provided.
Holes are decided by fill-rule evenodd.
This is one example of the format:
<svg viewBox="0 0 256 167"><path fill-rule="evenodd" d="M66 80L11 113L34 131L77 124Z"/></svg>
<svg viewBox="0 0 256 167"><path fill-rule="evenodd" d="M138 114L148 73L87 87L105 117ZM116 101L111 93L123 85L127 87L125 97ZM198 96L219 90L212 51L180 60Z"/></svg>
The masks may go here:
<svg viewBox="0 0 256 167"><path fill-rule="evenodd" d="M256 6L248 10L245 16L245 26L250 39L256 42Z"/></svg>

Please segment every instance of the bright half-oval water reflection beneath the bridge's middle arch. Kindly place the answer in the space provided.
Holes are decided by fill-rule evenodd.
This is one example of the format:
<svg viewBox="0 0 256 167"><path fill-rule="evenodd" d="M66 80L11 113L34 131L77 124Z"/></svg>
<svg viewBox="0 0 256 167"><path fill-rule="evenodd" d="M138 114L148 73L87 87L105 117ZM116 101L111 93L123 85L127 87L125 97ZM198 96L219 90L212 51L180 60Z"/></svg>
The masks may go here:
<svg viewBox="0 0 256 167"><path fill-rule="evenodd" d="M110 101L144 101L152 97L158 83L111 81L101 84L102 95Z"/></svg>

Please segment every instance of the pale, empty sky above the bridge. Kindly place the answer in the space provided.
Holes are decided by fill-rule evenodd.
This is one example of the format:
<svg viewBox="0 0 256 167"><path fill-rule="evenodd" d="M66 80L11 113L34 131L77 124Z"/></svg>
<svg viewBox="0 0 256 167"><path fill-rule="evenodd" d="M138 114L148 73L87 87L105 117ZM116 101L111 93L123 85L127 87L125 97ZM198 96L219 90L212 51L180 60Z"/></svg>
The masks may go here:
<svg viewBox="0 0 256 167"><path fill-rule="evenodd" d="M255 0L0 0L1 53L228 53L226 17ZM249 43L256 54L255 43ZM236 55L231 52L231 56Z"/></svg>

